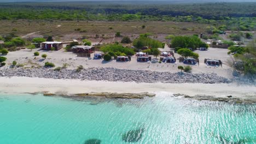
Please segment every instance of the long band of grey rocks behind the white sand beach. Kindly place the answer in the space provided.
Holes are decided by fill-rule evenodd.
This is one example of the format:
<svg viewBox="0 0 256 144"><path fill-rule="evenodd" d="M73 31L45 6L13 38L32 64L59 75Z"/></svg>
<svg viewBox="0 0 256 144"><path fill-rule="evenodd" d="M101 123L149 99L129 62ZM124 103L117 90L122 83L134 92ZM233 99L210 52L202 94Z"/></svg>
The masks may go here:
<svg viewBox="0 0 256 144"><path fill-rule="evenodd" d="M96 81L123 81L123 82L162 82L162 83L229 83L229 79L217 74L191 74L170 73L149 70L130 70L117 68L88 68L77 72L75 69L61 69L55 71L50 68L24 69L8 68L1 69L0 76L27 76L43 77L48 79L79 79Z"/></svg>

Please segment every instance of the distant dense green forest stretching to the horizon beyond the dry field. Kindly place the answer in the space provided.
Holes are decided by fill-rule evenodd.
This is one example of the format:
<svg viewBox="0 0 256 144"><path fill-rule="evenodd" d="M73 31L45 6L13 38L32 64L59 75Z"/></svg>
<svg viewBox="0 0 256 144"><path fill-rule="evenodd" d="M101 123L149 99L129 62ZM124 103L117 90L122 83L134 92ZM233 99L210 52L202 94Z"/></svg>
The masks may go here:
<svg viewBox="0 0 256 144"><path fill-rule="evenodd" d="M218 31L252 31L256 26L255 7L256 3L1 3L0 20L198 22L211 23Z"/></svg>

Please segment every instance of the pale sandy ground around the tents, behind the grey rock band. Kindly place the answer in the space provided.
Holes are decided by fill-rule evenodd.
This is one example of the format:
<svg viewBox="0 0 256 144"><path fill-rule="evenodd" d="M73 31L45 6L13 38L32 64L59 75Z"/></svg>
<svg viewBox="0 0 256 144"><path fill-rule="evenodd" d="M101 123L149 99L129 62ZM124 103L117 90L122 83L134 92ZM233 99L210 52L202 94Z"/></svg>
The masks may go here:
<svg viewBox="0 0 256 144"><path fill-rule="evenodd" d="M170 50L170 48L165 48L165 50ZM39 51L40 56L33 56L35 51ZM200 55L200 64L191 65L193 68L193 73L216 73L219 76L224 76L227 78L232 77L232 70L228 65L231 56L227 55L227 49L209 48L208 51L195 51ZM97 52L96 52L97 53ZM47 58L41 57L42 54L46 54ZM177 53L174 54L176 58L179 57ZM53 62L56 67L61 67L63 63L68 63L68 69L75 69L78 65L83 65L84 68L92 67L113 67L119 69L133 69L133 70L152 70L152 71L171 71L176 73L178 70L178 65L184 65L177 61L176 64L173 63L145 63L137 62L136 57L132 56L131 62L116 62L114 59L110 62L104 62L103 59L90 59L85 57L77 57L72 52L65 52L64 49L59 51L41 51L39 49L27 50L23 49L20 51L9 52L7 57L7 64L10 66L13 61L18 62L18 64L25 64L25 67L31 68L43 66L45 62ZM91 53L91 57L94 57L94 53ZM153 57L153 56L152 56ZM159 58L159 57L158 57ZM212 67L206 66L204 64L205 58L215 58L220 59L223 62L223 67ZM5 66L8 67L8 66Z"/></svg>

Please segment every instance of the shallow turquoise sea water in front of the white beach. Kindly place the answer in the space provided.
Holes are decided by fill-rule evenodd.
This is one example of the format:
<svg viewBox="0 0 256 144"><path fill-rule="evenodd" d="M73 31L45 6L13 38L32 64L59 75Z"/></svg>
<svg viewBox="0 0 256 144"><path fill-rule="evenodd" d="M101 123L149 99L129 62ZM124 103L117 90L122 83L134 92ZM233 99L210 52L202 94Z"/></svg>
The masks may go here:
<svg viewBox="0 0 256 144"><path fill-rule="evenodd" d="M0 115L0 143L5 144L129 143L123 134L130 130L141 134L133 143L256 143L256 105L166 93L136 100L0 94Z"/></svg>

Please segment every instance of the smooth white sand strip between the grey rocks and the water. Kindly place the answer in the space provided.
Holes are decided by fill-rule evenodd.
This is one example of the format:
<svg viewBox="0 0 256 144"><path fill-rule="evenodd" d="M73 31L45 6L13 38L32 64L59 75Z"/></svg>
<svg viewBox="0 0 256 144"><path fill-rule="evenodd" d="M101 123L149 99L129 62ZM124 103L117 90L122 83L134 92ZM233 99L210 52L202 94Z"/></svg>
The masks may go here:
<svg viewBox="0 0 256 144"><path fill-rule="evenodd" d="M136 83L110 81L81 81L72 79L45 79L38 77L0 77L1 93L49 93L79 96L84 93L173 93L174 97L197 100L218 100L238 103L256 103L256 88L236 83ZM230 97L230 95L232 97ZM81 96L81 95L80 95ZM84 96L84 95L83 95ZM82 97L83 97L82 96ZM229 96L229 97L228 97Z"/></svg>

